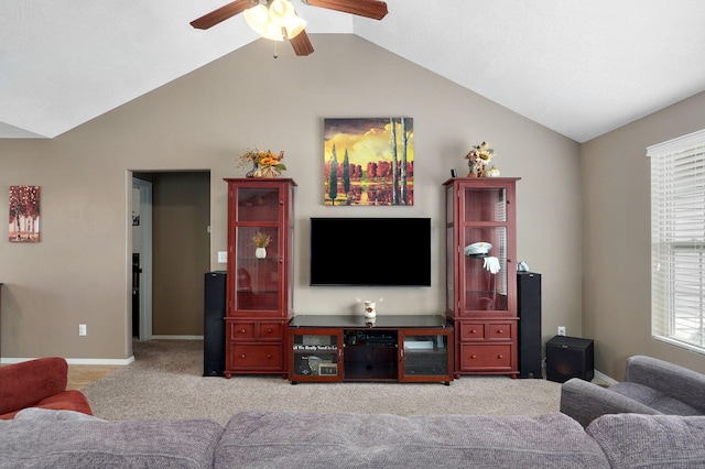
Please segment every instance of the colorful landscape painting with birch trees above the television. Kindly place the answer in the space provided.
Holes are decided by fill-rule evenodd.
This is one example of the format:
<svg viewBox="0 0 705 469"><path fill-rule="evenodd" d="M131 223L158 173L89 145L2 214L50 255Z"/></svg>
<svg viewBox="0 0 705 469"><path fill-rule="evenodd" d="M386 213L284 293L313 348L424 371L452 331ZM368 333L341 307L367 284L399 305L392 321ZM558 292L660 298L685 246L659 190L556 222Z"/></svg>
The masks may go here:
<svg viewBox="0 0 705 469"><path fill-rule="evenodd" d="M325 119L324 160L325 205L414 204L412 118Z"/></svg>

